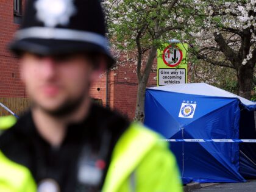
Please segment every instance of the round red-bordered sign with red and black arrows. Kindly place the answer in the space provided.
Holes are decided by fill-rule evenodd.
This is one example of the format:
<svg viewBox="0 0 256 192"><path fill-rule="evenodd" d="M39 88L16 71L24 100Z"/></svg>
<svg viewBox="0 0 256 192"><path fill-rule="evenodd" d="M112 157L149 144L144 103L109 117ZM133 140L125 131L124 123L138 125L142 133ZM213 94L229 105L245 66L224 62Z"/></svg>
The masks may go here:
<svg viewBox="0 0 256 192"><path fill-rule="evenodd" d="M165 62L167 66L174 67L180 64L183 54L178 46L169 44L163 51L162 57L163 62Z"/></svg>

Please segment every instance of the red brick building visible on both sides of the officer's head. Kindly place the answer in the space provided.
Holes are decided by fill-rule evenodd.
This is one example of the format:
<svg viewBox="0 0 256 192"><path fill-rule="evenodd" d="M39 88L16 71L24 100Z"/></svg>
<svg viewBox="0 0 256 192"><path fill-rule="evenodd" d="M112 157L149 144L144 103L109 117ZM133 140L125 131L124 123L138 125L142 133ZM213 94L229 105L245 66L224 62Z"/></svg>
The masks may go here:
<svg viewBox="0 0 256 192"><path fill-rule="evenodd" d="M13 112L23 109L17 106L27 98L27 94L20 81L18 59L10 54L7 45L21 23L24 3L24 0L0 0L0 102L12 98L7 107ZM102 99L103 105L108 105L132 119L137 96L137 76L133 71L134 65L133 67L124 65L115 71L109 71L108 74L102 74L99 81L91 87L91 97ZM156 75L151 75L149 86L157 84L154 76ZM23 105L26 106L26 104ZM0 112L1 110L3 109L0 108Z"/></svg>

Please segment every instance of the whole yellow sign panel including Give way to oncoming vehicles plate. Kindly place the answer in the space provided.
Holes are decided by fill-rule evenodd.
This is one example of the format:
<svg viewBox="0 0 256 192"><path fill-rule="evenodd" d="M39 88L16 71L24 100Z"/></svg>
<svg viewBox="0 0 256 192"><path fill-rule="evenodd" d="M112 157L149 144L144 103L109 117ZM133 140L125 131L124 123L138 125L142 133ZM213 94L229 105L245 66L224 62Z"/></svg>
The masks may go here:
<svg viewBox="0 0 256 192"><path fill-rule="evenodd" d="M165 44L157 50L157 86L187 83L187 43Z"/></svg>

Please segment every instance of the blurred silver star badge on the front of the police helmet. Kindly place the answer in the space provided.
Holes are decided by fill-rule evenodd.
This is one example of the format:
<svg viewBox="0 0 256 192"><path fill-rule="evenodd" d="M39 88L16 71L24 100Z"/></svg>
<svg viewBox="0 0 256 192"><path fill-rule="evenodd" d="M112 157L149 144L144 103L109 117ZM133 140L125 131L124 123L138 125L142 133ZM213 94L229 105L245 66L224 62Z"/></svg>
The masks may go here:
<svg viewBox="0 0 256 192"><path fill-rule="evenodd" d="M37 0L35 9L37 19L46 27L67 26L69 18L76 13L73 0Z"/></svg>

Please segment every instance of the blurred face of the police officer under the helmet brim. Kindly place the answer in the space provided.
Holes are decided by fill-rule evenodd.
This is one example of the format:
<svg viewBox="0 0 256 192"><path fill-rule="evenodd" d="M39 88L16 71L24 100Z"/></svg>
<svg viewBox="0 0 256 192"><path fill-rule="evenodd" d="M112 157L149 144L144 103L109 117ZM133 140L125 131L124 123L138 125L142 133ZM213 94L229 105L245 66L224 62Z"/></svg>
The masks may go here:
<svg viewBox="0 0 256 192"><path fill-rule="evenodd" d="M35 107L53 115L67 115L88 99L91 82L102 72L82 54L43 57L25 53L20 69Z"/></svg>

